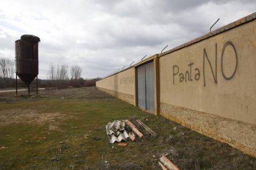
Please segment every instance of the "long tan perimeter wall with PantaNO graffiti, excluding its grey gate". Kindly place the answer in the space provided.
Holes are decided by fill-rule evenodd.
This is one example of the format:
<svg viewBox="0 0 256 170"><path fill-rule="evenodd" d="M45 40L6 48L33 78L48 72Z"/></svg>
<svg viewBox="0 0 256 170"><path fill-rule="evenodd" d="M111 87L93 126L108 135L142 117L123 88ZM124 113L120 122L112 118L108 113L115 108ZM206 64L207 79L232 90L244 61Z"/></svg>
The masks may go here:
<svg viewBox="0 0 256 170"><path fill-rule="evenodd" d="M256 13L154 56L154 113L256 156ZM97 86L137 105L140 65Z"/></svg>

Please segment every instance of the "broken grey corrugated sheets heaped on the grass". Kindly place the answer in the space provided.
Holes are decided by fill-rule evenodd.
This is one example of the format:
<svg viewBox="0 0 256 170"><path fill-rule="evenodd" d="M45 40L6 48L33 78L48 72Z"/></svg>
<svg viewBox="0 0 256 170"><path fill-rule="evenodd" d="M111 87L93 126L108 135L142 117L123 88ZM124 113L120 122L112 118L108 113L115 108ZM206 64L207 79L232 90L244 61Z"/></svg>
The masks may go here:
<svg viewBox="0 0 256 170"><path fill-rule="evenodd" d="M129 138L129 134L126 132L125 122L114 120L113 123L108 123L106 125L106 134L109 137L109 142L111 144L114 144L114 142L121 142L125 141L127 138Z"/></svg>

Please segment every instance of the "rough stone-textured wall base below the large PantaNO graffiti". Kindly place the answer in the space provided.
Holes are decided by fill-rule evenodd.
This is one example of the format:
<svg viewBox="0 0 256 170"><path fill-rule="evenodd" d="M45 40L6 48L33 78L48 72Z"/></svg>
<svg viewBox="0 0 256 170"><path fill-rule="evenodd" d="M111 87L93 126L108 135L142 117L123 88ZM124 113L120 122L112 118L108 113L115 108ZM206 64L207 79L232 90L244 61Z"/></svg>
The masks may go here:
<svg viewBox="0 0 256 170"><path fill-rule="evenodd" d="M160 103L160 115L256 157L256 125Z"/></svg>

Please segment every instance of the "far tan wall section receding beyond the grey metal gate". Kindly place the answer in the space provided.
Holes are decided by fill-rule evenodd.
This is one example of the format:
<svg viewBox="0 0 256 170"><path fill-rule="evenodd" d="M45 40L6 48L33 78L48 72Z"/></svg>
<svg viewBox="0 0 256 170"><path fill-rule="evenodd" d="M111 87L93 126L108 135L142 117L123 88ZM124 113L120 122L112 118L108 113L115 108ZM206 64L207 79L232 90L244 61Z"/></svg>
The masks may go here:
<svg viewBox="0 0 256 170"><path fill-rule="evenodd" d="M96 87L119 99L135 105L135 69L121 71L96 82Z"/></svg>

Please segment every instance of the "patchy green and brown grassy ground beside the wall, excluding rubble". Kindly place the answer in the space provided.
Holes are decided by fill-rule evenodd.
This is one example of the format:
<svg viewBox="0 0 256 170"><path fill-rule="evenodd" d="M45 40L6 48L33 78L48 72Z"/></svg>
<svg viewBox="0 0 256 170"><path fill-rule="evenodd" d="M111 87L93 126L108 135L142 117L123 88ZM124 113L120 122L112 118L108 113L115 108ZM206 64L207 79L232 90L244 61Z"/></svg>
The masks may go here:
<svg viewBox="0 0 256 170"><path fill-rule="evenodd" d="M0 94L0 169L160 169L165 154L181 169L256 169L255 158L95 87L40 93ZM114 119L130 119L145 136L109 144L105 125Z"/></svg>

